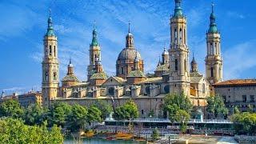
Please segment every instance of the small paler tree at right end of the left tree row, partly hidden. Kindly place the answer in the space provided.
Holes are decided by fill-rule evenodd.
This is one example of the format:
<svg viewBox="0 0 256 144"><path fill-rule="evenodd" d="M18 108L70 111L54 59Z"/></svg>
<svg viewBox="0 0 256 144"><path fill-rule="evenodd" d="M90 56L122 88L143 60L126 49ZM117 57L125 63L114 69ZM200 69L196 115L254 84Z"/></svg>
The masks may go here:
<svg viewBox="0 0 256 144"><path fill-rule="evenodd" d="M103 120L106 119L111 112L113 112L112 106L106 101L97 100L94 105L98 108L98 110L102 111L101 117Z"/></svg>

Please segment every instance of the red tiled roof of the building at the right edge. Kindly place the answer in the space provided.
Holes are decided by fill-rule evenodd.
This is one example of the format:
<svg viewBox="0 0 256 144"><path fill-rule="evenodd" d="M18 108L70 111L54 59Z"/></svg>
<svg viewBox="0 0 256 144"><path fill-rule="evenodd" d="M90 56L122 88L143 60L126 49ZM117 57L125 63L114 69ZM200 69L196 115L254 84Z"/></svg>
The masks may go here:
<svg viewBox="0 0 256 144"><path fill-rule="evenodd" d="M214 86L245 86L256 85L256 79L231 79L215 83Z"/></svg>

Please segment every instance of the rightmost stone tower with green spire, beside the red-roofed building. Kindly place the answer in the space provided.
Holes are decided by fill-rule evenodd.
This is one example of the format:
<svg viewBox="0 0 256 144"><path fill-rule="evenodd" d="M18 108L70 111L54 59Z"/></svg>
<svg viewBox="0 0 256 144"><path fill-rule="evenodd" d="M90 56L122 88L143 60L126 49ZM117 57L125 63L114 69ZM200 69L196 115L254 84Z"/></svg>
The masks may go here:
<svg viewBox="0 0 256 144"><path fill-rule="evenodd" d="M210 84L222 81L222 55L221 35L218 32L214 4L210 14L210 27L206 34L207 55L206 55L206 78Z"/></svg>

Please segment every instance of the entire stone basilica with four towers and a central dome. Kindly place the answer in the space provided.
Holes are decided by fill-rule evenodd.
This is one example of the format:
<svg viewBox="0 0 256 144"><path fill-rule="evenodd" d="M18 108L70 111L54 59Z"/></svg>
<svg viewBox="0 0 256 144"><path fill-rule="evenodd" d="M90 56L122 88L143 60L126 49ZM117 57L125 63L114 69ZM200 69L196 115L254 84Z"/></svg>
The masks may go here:
<svg viewBox="0 0 256 144"><path fill-rule="evenodd" d="M206 97L214 94L214 84L222 82L221 35L216 24L214 6L206 33L206 74L200 74L196 58L189 61L187 45L187 19L182 12L182 0L174 0L174 13L170 17L170 47L164 48L154 74L144 73L144 61L134 45L130 31L126 34L125 47L117 55L116 74L108 75L102 66L101 46L94 26L89 47L87 80L80 81L74 74L71 60L64 78L59 79L58 40L54 34L53 20L48 18L48 28L43 39L42 101L44 106L60 101L90 106L102 100L120 106L132 99L141 118L151 110L158 117L163 115L162 103L166 94L186 94L194 106L206 106ZM194 54L193 54L194 55ZM61 83L60 83L61 82Z"/></svg>

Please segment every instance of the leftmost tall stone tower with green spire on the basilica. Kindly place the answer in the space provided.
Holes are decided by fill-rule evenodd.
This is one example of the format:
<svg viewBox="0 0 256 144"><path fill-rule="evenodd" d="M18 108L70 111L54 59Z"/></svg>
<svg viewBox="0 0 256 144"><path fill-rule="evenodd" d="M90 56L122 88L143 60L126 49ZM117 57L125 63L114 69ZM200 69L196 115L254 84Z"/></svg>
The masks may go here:
<svg viewBox="0 0 256 144"><path fill-rule="evenodd" d="M50 100L58 96L58 42L54 34L51 15L48 29L43 38L44 57L42 60L42 98L43 105L49 106Z"/></svg>

